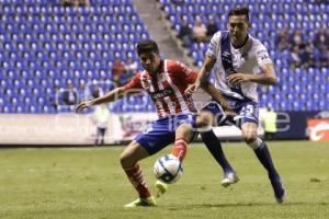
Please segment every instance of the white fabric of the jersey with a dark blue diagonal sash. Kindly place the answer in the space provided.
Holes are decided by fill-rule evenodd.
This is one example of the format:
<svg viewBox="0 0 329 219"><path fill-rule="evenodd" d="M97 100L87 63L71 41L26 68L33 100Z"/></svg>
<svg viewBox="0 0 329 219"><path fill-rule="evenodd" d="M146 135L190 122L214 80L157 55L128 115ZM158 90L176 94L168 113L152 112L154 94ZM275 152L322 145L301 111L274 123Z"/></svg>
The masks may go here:
<svg viewBox="0 0 329 219"><path fill-rule="evenodd" d="M216 64L213 69L215 74L215 85L223 92L224 95L232 96L239 100L249 99L258 103L257 83L242 82L239 89L232 89L227 83L227 73L225 72L222 61L222 36L224 34L227 34L227 32L217 32L213 36L206 51L207 56L216 59ZM259 39L250 35L246 45L241 48L236 49L231 44L227 46L230 47L231 62L235 72L260 73L261 66L265 64L272 64L264 45Z"/></svg>

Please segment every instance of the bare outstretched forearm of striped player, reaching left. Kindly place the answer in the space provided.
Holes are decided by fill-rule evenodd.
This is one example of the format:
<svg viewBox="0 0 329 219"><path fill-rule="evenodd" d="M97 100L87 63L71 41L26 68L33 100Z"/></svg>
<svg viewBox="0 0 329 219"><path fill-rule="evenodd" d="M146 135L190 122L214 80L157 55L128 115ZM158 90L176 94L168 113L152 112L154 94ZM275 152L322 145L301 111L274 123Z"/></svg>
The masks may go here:
<svg viewBox="0 0 329 219"><path fill-rule="evenodd" d="M112 91L110 91L109 93L106 93L103 96L93 99L91 101L82 101L81 103L79 103L77 105L76 112L79 113L83 108L87 108L87 107L92 106L92 105L113 102L113 101L122 97L124 93L127 93L127 91L128 91L128 89L126 89L125 87L120 87L120 88L113 89Z"/></svg>

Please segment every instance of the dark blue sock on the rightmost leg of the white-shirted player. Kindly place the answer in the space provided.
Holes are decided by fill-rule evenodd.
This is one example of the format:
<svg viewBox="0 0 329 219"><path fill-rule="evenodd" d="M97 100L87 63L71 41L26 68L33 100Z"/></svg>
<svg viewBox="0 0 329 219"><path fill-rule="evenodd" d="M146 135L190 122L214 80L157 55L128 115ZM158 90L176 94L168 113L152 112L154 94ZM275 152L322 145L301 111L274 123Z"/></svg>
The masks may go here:
<svg viewBox="0 0 329 219"><path fill-rule="evenodd" d="M261 146L253 150L258 160L262 163L262 165L266 169L270 177L276 177L279 174L274 168L272 162L272 158L268 146L264 141L262 141Z"/></svg>

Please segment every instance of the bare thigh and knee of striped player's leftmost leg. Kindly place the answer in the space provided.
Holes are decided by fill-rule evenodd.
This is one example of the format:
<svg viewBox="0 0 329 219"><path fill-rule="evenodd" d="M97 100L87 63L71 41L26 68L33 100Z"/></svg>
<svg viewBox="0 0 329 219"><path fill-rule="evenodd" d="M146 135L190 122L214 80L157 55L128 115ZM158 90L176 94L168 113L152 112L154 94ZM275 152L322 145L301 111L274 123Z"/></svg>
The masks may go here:
<svg viewBox="0 0 329 219"><path fill-rule="evenodd" d="M133 140L121 153L120 161L124 168L133 166L137 161L147 157L149 157L147 150L137 141Z"/></svg>

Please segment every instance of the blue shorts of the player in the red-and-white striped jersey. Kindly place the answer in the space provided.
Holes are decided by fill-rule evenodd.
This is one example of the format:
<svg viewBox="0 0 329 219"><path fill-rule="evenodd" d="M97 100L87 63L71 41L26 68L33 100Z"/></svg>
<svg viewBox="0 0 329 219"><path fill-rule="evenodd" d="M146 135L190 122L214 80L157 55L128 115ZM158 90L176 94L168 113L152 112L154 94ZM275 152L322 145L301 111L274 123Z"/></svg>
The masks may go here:
<svg viewBox="0 0 329 219"><path fill-rule="evenodd" d="M175 129L181 124L195 124L194 114L180 114L171 117L160 118L140 132L135 140L144 147L149 154L155 154L166 148L168 145L174 142Z"/></svg>

